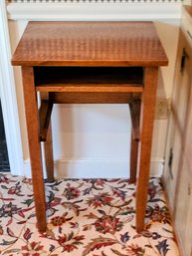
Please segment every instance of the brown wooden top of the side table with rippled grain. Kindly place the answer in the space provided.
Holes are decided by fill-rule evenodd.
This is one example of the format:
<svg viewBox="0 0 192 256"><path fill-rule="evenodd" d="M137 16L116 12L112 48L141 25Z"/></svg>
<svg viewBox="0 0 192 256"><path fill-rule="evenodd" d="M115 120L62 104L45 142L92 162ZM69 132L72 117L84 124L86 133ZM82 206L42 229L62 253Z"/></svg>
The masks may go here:
<svg viewBox="0 0 192 256"><path fill-rule="evenodd" d="M15 66L142 66L168 64L151 22L29 22Z"/></svg>

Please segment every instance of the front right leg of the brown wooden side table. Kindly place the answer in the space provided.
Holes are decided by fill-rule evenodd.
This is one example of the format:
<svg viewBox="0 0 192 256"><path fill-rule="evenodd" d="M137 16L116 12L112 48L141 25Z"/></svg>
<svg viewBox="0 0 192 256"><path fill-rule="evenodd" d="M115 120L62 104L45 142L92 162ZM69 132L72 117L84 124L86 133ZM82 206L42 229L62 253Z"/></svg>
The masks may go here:
<svg viewBox="0 0 192 256"><path fill-rule="evenodd" d="M144 229L157 75L157 68L145 68L144 70L144 92L140 117L140 160L136 189L136 230L138 232Z"/></svg>

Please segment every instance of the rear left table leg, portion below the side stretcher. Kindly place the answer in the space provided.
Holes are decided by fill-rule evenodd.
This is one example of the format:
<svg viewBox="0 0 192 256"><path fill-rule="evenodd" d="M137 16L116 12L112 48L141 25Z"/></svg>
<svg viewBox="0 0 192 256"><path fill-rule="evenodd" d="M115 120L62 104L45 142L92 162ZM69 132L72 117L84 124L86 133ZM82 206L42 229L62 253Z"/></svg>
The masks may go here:
<svg viewBox="0 0 192 256"><path fill-rule="evenodd" d="M47 179L49 182L54 182L54 157L53 157L53 144L52 144L52 125L50 123L47 133L47 139L44 144Z"/></svg>

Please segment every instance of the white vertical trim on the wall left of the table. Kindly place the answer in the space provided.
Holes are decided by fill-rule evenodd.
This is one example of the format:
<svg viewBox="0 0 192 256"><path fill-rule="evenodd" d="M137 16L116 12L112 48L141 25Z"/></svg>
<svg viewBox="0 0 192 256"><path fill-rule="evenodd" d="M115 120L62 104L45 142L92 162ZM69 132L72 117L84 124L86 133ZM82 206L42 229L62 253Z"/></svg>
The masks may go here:
<svg viewBox="0 0 192 256"><path fill-rule="evenodd" d="M6 5L0 3L0 99L12 174L23 172L23 152L20 136L17 98L13 69L10 64L11 49L6 16Z"/></svg>

